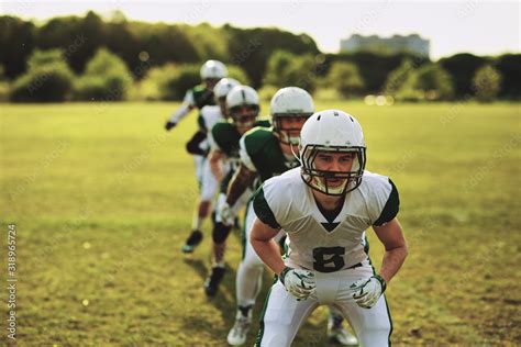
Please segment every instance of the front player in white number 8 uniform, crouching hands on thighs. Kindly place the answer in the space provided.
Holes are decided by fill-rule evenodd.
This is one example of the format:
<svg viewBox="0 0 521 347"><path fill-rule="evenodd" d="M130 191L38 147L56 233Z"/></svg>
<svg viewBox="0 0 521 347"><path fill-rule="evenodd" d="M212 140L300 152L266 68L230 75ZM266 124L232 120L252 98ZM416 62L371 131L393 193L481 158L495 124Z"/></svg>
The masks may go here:
<svg viewBox="0 0 521 347"><path fill-rule="evenodd" d="M300 134L301 168L267 180L255 193L251 242L279 278L266 299L257 346L289 346L322 304L342 312L361 346L390 344L392 324L383 293L407 246L396 219L398 191L389 178L364 171L365 150L353 116L317 112ZM379 275L362 243L369 226L386 248ZM289 239L285 259L271 239L280 230Z"/></svg>

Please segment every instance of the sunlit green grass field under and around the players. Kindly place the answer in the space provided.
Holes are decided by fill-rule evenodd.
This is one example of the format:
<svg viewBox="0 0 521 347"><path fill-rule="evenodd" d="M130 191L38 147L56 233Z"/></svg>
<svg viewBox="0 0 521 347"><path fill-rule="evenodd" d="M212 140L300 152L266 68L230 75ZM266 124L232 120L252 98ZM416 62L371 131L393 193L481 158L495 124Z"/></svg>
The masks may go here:
<svg viewBox="0 0 521 347"><path fill-rule="evenodd" d="M5 316L7 223L15 223L21 346L225 344L240 235L222 291L208 300L210 223L202 246L180 253L197 197L184 149L196 114L166 133L175 108L0 107L0 300ZM325 108L361 121L367 168L400 191L409 257L387 291L393 343L521 344L519 104ZM379 265L373 232L369 240ZM326 311L315 311L295 346L325 345L325 323ZM4 342L4 318L0 326Z"/></svg>

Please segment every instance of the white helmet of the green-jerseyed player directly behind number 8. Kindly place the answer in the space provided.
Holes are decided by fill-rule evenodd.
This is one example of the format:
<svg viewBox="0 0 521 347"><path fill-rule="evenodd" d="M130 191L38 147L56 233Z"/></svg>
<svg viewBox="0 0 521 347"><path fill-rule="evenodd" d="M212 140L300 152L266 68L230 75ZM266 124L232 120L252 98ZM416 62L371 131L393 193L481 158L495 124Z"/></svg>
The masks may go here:
<svg viewBox="0 0 521 347"><path fill-rule="evenodd" d="M271 98L270 111L274 131L278 134L280 142L298 145L300 127L282 127L281 119L309 119L314 112L313 99L301 88L282 88Z"/></svg>

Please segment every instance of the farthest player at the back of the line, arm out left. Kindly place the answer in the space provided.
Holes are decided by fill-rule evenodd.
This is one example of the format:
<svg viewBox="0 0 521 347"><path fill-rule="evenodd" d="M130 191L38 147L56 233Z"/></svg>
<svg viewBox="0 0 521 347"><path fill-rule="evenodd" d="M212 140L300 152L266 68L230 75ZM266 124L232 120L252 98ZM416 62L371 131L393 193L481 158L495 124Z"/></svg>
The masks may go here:
<svg viewBox="0 0 521 347"><path fill-rule="evenodd" d="M219 60L208 60L201 66L200 70L201 79L204 81L204 85L199 85L188 90L182 104L170 119L166 122L166 131L170 131L175 127L186 115L190 113L191 110L198 108L201 110L206 105L214 105L214 96L213 87L221 79L228 76L228 69ZM200 116L200 115L199 115ZM199 117L200 120L200 117ZM200 121L199 121L200 123ZM206 153L208 148L204 148L206 133L203 130L199 130L193 134L190 141L187 143L187 150L190 154L193 154L193 163L196 166L196 177L201 186L202 176L203 176L203 165L206 161ZM202 147L202 148L201 148ZM192 222L192 232L197 234L200 233L202 222L208 215L208 209L204 203L198 202L197 212ZM191 251L190 247L182 248L184 251Z"/></svg>

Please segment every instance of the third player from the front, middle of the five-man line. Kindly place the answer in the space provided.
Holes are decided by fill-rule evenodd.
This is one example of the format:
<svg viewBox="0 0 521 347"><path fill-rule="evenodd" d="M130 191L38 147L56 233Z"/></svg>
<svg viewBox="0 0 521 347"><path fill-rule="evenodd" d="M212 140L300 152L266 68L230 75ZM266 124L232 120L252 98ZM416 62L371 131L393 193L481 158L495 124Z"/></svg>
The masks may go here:
<svg viewBox="0 0 521 347"><path fill-rule="evenodd" d="M221 181L221 193L218 210L224 203L225 192L239 163L239 139L254 126L270 126L269 121L257 121L260 107L257 92L247 86L233 88L226 96L229 120L218 122L211 131L210 167L213 175ZM224 165L223 165L224 164ZM242 199L232 204L235 214L246 203L252 192L242 194ZM204 281L204 291L213 296L224 276L224 248L234 221L224 224L219 214L215 215L212 231L213 259L209 277Z"/></svg>

